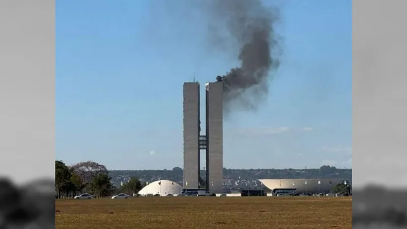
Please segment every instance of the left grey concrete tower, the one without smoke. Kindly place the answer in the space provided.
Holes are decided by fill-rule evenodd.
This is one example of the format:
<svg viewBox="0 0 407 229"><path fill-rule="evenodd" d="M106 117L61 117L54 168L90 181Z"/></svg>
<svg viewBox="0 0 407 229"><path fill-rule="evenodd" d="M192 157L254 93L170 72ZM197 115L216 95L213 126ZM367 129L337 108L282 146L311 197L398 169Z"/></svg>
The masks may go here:
<svg viewBox="0 0 407 229"><path fill-rule="evenodd" d="M199 83L184 83L184 188L199 183Z"/></svg>

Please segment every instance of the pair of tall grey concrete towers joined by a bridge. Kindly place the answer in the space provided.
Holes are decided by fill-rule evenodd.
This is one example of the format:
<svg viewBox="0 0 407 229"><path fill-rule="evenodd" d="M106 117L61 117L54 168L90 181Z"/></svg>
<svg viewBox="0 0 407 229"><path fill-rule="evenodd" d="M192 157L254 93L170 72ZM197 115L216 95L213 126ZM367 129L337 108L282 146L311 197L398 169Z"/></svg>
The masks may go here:
<svg viewBox="0 0 407 229"><path fill-rule="evenodd" d="M200 84L184 83L184 188L206 186L211 193L223 193L223 86L205 84L205 129L200 122ZM206 154L206 183L200 176L200 153Z"/></svg>

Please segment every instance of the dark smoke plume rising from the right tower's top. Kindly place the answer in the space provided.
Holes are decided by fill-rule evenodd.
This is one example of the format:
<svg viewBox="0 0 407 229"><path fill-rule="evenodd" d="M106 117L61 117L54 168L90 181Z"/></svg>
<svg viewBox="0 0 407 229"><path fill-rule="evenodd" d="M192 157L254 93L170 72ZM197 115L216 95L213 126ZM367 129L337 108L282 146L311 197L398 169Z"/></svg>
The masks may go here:
<svg viewBox="0 0 407 229"><path fill-rule="evenodd" d="M225 109L256 110L266 99L273 71L279 67L281 49L275 31L279 12L260 0L214 0L212 4L216 23L226 26L232 38L228 42L239 49L240 66L216 79L223 82Z"/></svg>

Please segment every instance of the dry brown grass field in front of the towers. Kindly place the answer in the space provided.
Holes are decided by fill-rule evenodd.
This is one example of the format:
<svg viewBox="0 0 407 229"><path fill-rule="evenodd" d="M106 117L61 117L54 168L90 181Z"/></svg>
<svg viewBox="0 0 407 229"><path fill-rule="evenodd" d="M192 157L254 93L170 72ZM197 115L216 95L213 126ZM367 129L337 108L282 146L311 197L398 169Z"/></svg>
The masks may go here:
<svg viewBox="0 0 407 229"><path fill-rule="evenodd" d="M62 200L55 228L352 228L352 198L140 197Z"/></svg>

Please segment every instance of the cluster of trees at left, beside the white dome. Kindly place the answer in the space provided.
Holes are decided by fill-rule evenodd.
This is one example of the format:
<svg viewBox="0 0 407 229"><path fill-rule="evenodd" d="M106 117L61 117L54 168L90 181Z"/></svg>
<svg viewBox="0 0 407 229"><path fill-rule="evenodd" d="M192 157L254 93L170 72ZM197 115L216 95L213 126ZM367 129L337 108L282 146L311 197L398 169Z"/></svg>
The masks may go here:
<svg viewBox="0 0 407 229"><path fill-rule="evenodd" d="M83 161L68 166L62 160L55 160L55 197L73 198L81 193L89 193L96 198L108 197L118 193L138 193L145 183L131 177L119 186L111 181L106 166L94 161Z"/></svg>

